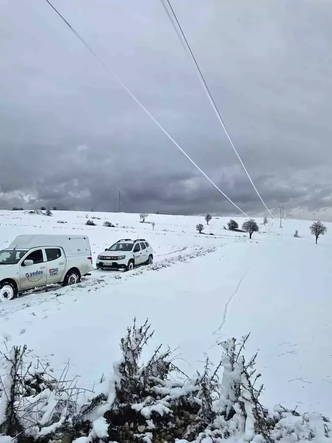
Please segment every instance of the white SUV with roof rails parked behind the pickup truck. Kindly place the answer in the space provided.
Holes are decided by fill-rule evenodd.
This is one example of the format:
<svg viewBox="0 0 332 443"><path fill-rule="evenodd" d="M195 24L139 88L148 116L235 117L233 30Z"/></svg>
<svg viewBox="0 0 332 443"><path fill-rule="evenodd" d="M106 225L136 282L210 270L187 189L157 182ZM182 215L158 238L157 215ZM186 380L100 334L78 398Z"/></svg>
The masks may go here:
<svg viewBox="0 0 332 443"><path fill-rule="evenodd" d="M144 238L123 238L97 257L97 268L116 268L131 271L136 265L151 265L153 250Z"/></svg>

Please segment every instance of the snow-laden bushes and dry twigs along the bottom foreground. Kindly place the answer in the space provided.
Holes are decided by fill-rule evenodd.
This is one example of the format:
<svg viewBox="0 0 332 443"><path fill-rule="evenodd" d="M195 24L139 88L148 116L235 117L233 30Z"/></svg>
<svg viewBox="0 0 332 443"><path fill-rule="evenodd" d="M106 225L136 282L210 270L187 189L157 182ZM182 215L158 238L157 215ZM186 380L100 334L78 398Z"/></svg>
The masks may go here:
<svg viewBox="0 0 332 443"><path fill-rule="evenodd" d="M331 424L322 415L301 415L282 406L267 410L261 404L256 355L248 361L243 355L248 335L219 343L219 364L212 366L207 358L203 372L193 377L176 368L171 350L161 346L142 363L152 335L148 321L140 327L134 321L121 339L122 356L113 365L113 375L101 378L96 393L67 381L68 365L56 380L48 365L26 363L26 347L12 348L0 380L0 434L18 443L332 438Z"/></svg>

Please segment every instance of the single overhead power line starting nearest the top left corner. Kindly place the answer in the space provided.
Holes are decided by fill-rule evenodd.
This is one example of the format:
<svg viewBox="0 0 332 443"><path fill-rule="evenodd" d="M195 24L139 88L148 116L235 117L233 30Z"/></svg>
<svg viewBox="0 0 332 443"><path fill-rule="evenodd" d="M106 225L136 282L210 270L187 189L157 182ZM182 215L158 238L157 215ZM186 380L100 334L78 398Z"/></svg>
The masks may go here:
<svg viewBox="0 0 332 443"><path fill-rule="evenodd" d="M86 43L86 41L78 34L78 32L75 31L75 29L67 22L67 20L59 13L59 11L52 5L52 3L49 0L46 0L46 2L51 6L51 8L57 13L57 15L63 19L63 21L66 23L66 25L70 28L70 30L76 35L76 37L81 41L82 44L84 44L84 46L91 52L91 54L98 60L98 62L102 65L102 67L109 73L111 74L118 82L119 84L123 87L123 89L125 89L128 94L135 100L135 102L137 103L138 106L140 106L140 108L142 108L142 110L144 112L146 112L149 117L153 120L153 122L162 130L162 132L168 136L168 138L171 140L171 142L174 143L174 145L182 152L183 155L186 156L186 158L188 158L188 160L195 166L195 168L197 168L199 170L199 172L201 174L204 175L204 177L206 179L209 180L209 182L225 197L227 198L227 200L229 200L229 202L232 203L232 205L234 205L236 207L236 209L238 209L243 215L245 215L246 217L248 217L248 215L242 211L242 209L240 209L229 197L227 197L227 195L222 192L222 190L211 180L210 177L208 177L208 175L205 174L204 171L201 170L201 168L194 162L194 160L186 153L183 151L183 149L176 143L176 141L174 140L174 138L171 137L171 135L160 125L160 123L154 118L154 116L147 110L146 107L144 107L144 105L141 104L141 102L138 100L138 98L136 98L136 96L130 91L130 89L127 88L126 85L124 85L124 83L121 82L121 80L119 79L119 77L110 69L108 68L105 63L103 63L103 61L101 60L101 58L99 58L99 56L93 51L93 49L91 49L91 47Z"/></svg>

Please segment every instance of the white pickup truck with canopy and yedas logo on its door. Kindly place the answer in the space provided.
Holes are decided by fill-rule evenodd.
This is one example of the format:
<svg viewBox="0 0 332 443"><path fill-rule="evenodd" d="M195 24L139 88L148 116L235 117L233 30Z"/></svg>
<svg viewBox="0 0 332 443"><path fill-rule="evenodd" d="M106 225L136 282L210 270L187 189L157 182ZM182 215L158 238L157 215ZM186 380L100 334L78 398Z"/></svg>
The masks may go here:
<svg viewBox="0 0 332 443"><path fill-rule="evenodd" d="M91 270L87 236L18 235L0 251L0 300L48 285L74 285Z"/></svg>

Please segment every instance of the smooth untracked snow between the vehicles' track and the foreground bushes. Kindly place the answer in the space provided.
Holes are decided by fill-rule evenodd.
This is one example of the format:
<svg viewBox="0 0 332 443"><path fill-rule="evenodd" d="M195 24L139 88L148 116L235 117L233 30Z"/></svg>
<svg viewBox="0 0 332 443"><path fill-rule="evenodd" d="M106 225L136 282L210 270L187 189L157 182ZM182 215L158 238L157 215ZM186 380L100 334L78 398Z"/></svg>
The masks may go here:
<svg viewBox="0 0 332 443"><path fill-rule="evenodd" d="M101 278L97 285L70 288L58 297L44 294L36 303L30 300L30 307L25 302L25 309L4 310L0 331L8 347L27 344L58 370L70 358L72 375L90 387L112 371L119 338L135 316L149 317L156 329L150 349L159 343L179 347L175 363L190 374L201 368L205 353L217 363L216 340L251 332L248 356L260 349L257 369L265 402L328 415L332 326L324 278L329 249L320 248L318 265L308 260L315 245L303 243L299 253L293 242L225 245L188 263L124 274L111 285Z"/></svg>

